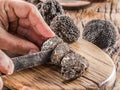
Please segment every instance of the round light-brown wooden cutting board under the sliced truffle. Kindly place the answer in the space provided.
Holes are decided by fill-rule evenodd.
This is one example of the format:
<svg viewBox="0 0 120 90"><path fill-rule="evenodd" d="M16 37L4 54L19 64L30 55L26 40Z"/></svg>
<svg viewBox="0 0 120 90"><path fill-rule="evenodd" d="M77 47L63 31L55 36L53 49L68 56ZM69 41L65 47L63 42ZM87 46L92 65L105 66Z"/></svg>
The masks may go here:
<svg viewBox="0 0 120 90"><path fill-rule="evenodd" d="M116 78L112 59L85 40L80 39L70 46L89 61L89 69L82 77L65 83L59 68L44 65L3 77L4 85L12 90L110 90Z"/></svg>

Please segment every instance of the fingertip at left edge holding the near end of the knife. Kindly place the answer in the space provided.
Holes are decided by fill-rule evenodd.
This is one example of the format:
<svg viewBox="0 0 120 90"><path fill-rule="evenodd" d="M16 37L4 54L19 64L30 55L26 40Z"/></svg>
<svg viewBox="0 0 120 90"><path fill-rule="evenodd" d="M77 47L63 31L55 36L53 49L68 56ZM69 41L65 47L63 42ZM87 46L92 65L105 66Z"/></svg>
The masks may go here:
<svg viewBox="0 0 120 90"><path fill-rule="evenodd" d="M10 75L13 71L14 64L12 60L0 50L0 72Z"/></svg>

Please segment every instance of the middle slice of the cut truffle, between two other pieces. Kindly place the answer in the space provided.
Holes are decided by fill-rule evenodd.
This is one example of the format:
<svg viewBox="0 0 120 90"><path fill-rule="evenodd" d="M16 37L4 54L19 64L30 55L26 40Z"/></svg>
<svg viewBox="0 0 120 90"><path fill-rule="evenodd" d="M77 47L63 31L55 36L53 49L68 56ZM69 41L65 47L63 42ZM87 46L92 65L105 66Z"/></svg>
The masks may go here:
<svg viewBox="0 0 120 90"><path fill-rule="evenodd" d="M58 44L51 55L51 62L55 65L61 66L62 58L71 52L71 48L66 43Z"/></svg>

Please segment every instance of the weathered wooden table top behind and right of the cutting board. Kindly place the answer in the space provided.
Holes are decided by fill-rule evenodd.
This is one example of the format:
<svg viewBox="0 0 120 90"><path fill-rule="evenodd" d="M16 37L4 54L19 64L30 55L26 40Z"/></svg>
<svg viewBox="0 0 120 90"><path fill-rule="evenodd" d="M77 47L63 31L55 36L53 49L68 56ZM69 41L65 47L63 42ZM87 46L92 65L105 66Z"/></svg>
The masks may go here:
<svg viewBox="0 0 120 90"><path fill-rule="evenodd" d="M66 11L66 13L75 20L81 30L89 20L103 19L114 23L120 32L120 0L107 0L106 3L97 3L86 9ZM117 78L113 90L120 90L120 58L114 63L117 69Z"/></svg>

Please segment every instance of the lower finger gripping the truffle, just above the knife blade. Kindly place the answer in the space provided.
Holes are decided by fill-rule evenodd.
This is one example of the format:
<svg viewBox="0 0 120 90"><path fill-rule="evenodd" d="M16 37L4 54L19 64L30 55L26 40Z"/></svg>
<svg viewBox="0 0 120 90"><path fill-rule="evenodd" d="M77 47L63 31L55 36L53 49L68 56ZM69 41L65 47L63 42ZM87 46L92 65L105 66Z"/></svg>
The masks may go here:
<svg viewBox="0 0 120 90"><path fill-rule="evenodd" d="M28 54L29 52L39 51L39 48L35 44L13 36L2 28L0 28L0 42L0 49L12 51L17 54Z"/></svg>

